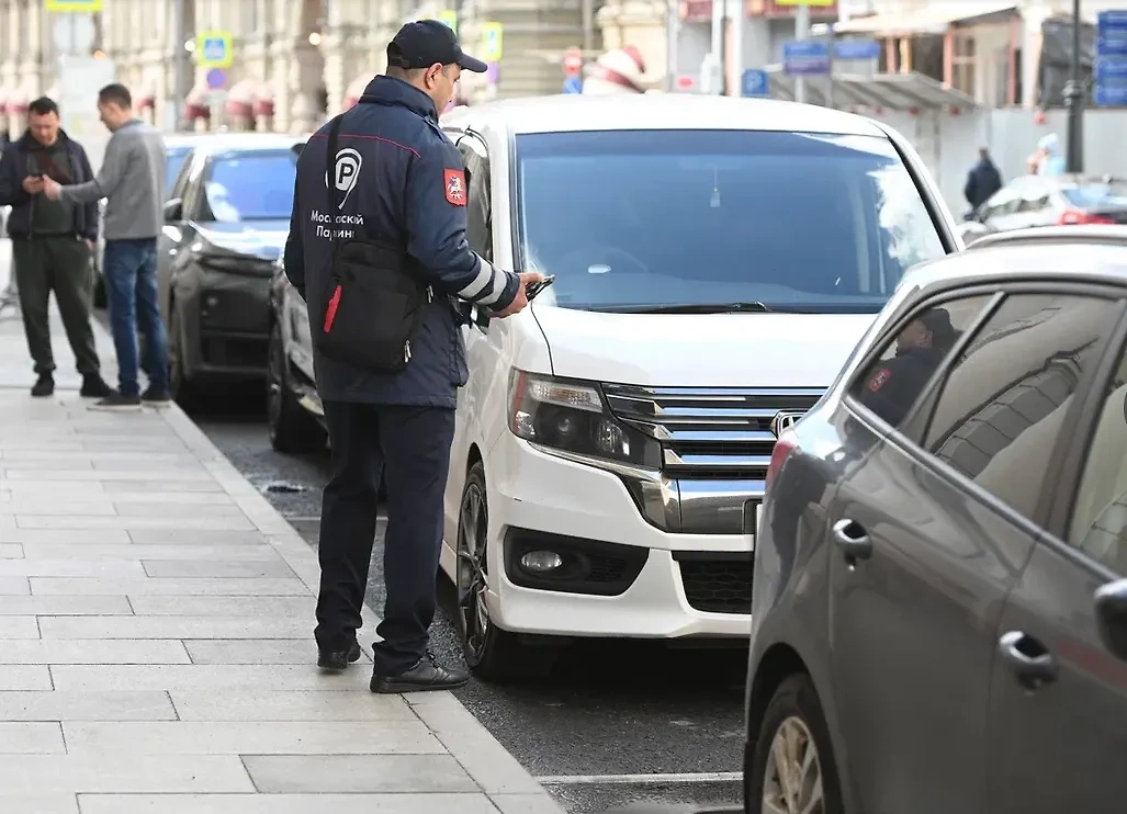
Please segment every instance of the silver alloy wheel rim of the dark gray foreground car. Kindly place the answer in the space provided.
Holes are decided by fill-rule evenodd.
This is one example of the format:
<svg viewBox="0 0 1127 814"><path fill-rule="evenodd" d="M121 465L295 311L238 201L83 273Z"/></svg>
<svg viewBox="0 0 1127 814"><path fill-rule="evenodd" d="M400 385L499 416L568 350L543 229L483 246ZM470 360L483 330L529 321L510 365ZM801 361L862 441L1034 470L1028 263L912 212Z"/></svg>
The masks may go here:
<svg viewBox="0 0 1127 814"><path fill-rule="evenodd" d="M761 814L825 814L825 806L818 747L806 723L792 716L771 741Z"/></svg>

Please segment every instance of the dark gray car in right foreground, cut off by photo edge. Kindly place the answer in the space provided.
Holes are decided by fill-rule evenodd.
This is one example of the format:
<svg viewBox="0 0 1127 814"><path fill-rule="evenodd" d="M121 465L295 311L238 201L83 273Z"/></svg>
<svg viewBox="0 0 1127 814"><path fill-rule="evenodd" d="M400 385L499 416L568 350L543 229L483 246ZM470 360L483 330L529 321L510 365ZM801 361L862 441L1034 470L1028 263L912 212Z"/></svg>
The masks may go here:
<svg viewBox="0 0 1127 814"><path fill-rule="evenodd" d="M780 427L748 812L1122 811L1127 246L1073 229L917 267Z"/></svg>

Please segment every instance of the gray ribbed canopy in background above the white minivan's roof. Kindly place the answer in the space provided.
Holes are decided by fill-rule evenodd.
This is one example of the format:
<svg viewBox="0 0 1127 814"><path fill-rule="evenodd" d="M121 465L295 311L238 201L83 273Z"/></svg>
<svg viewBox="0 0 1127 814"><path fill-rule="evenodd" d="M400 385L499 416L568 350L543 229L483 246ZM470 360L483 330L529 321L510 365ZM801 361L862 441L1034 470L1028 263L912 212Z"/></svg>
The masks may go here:
<svg viewBox="0 0 1127 814"><path fill-rule="evenodd" d="M775 99L795 99L795 77L782 72L782 65L769 65L771 96ZM806 101L828 104L828 78L806 77ZM875 76L834 76L834 107L867 107L886 110L935 110L957 107L977 107L975 100L961 90L946 87L923 73L878 73Z"/></svg>

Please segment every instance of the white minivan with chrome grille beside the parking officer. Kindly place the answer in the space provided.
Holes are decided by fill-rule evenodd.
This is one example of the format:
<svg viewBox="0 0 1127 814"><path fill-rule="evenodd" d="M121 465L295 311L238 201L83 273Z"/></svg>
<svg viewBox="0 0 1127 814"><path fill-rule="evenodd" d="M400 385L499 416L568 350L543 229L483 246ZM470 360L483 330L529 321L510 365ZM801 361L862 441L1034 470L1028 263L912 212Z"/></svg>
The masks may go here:
<svg viewBox="0 0 1127 814"><path fill-rule="evenodd" d="M777 435L916 263L961 248L895 132L791 103L460 108L471 247L554 275L465 328L443 569L470 666L554 637L746 642Z"/></svg>

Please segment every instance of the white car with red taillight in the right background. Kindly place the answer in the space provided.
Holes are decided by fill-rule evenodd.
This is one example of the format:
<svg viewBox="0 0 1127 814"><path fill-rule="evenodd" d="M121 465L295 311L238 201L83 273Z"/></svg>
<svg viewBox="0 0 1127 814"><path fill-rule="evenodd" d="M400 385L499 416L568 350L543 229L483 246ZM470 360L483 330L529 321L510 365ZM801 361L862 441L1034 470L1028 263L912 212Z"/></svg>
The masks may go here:
<svg viewBox="0 0 1127 814"><path fill-rule="evenodd" d="M959 224L968 246L986 235L1048 225L1127 223L1127 180L1110 176L1014 178Z"/></svg>

